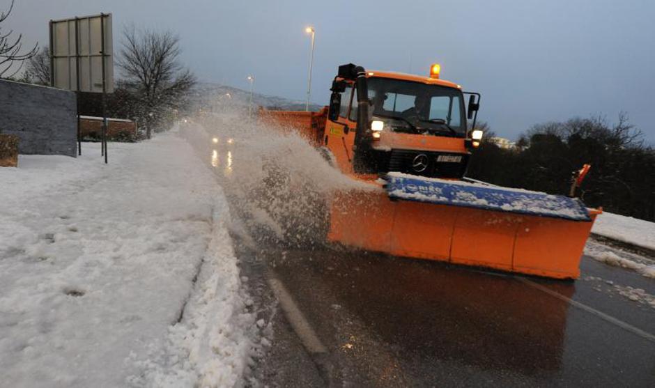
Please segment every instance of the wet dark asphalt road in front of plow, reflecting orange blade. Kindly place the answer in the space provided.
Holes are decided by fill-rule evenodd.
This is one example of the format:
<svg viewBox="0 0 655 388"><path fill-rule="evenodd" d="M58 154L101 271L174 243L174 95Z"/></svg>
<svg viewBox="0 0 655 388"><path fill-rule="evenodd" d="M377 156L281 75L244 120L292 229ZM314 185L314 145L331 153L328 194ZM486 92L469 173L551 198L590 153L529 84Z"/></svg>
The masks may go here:
<svg viewBox="0 0 655 388"><path fill-rule="evenodd" d="M655 387L655 309L606 283L655 294L634 272L584 258L580 280L548 281L343 249L238 251L268 265L327 348L278 352L298 370L273 367L271 385ZM285 325L274 348L290 343Z"/></svg>

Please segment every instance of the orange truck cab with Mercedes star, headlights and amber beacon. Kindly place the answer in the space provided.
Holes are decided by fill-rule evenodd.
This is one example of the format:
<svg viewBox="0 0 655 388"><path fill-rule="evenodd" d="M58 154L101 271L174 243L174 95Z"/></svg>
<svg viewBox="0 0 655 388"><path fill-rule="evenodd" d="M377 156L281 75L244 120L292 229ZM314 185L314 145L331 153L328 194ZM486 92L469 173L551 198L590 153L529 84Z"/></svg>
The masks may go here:
<svg viewBox="0 0 655 388"><path fill-rule="evenodd" d="M365 82L358 83L340 68L323 140L341 171L464 176L470 150L479 143L467 127L479 94L470 93L467 114L461 86L438 79L438 65L432 69L431 77L366 70ZM367 89L368 105L359 119L358 86ZM366 127L358 130L357 123Z"/></svg>

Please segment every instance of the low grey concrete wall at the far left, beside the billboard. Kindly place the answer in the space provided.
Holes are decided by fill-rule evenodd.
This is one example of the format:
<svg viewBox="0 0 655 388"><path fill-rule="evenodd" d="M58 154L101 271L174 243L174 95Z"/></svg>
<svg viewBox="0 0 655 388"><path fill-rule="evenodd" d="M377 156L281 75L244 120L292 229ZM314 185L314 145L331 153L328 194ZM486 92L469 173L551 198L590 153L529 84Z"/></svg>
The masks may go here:
<svg viewBox="0 0 655 388"><path fill-rule="evenodd" d="M20 137L22 154L75 157L75 93L0 79L0 133Z"/></svg>

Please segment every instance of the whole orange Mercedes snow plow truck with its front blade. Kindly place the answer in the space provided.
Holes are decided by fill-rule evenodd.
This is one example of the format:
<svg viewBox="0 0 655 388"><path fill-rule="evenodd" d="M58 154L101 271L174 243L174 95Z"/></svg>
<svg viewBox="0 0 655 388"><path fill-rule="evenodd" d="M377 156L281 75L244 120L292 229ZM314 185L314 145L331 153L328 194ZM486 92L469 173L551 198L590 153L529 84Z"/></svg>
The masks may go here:
<svg viewBox="0 0 655 388"><path fill-rule="evenodd" d="M430 77L419 77L341 65L323 110L260 111L260 120L293 128L342 173L371 186L330 196L328 240L576 279L601 210L569 196L465 178L483 135L467 123L475 128L480 95L439 79L439 70L432 65Z"/></svg>

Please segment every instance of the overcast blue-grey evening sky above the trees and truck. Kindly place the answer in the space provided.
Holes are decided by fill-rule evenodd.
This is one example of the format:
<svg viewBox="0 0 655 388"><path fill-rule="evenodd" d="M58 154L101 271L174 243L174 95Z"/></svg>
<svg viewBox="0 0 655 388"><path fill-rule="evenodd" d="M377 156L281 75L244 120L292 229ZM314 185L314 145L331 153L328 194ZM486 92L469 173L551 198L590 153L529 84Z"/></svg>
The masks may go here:
<svg viewBox="0 0 655 388"><path fill-rule="evenodd" d="M427 74L482 93L479 118L515 138L535 123L619 111L655 143L655 1L16 0L6 27L47 44L47 22L113 13L170 29L199 79L304 100L316 27L311 100L325 104L342 63ZM0 0L8 5L10 0ZM4 25L4 24L3 24Z"/></svg>

